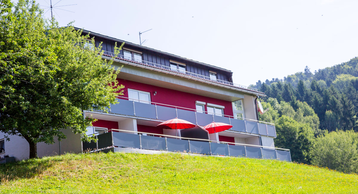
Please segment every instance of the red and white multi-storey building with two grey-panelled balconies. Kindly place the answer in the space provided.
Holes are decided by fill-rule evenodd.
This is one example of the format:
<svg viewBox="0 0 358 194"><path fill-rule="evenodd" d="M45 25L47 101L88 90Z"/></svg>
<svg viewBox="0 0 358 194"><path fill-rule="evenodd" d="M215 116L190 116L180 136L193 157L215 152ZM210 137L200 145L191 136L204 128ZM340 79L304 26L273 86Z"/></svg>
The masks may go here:
<svg viewBox="0 0 358 194"><path fill-rule="evenodd" d="M115 42L123 42L97 33L90 35L95 37L96 46L102 42L104 59L114 55ZM265 94L234 84L230 70L128 42L115 57L113 66L122 67L117 79L125 88L124 95L118 96L119 103L108 107L108 113L83 111L84 115L98 119L87 131L88 135L96 135L97 143L81 143L79 135L64 130L67 139L61 141L61 146L58 142L38 144L39 156L56 154L60 149L61 153L112 149L291 160L289 150L275 148L275 125L258 121L257 98ZM197 127L184 130L156 127L174 118L190 121ZM202 126L213 121L233 127L208 134ZM11 136L10 141L0 140L0 146L5 150L1 157L5 154L16 160L28 157L28 144L18 136Z"/></svg>

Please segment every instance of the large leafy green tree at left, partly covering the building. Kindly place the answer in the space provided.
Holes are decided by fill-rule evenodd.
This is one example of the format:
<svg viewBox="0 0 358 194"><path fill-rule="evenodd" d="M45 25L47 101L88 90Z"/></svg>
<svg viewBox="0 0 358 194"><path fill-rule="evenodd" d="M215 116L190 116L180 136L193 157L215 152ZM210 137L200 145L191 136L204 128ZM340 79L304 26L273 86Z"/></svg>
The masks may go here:
<svg viewBox="0 0 358 194"><path fill-rule="evenodd" d="M64 128L90 140L86 127L94 119L83 110L106 110L122 94L115 93L123 86L112 60L101 58L101 45L88 46L94 41L86 42L88 34L44 20L34 1L1 3L0 130L25 138L30 158L37 157L38 142L66 138Z"/></svg>

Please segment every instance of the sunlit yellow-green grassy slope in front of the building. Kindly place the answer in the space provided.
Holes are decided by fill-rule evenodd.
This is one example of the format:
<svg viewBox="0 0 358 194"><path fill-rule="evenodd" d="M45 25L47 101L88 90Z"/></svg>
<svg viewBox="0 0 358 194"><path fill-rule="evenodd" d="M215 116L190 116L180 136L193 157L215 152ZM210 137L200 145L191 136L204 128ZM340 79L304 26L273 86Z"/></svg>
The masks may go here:
<svg viewBox="0 0 358 194"><path fill-rule="evenodd" d="M67 154L0 165L0 193L358 193L358 175L181 154Z"/></svg>

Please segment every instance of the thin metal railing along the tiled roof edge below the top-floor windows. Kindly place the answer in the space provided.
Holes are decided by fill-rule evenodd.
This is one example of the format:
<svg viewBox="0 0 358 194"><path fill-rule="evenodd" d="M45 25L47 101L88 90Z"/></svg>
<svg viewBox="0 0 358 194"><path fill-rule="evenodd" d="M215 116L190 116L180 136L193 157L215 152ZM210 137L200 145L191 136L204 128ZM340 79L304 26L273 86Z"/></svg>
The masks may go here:
<svg viewBox="0 0 358 194"><path fill-rule="evenodd" d="M164 69L164 70L167 70L167 71L172 71L172 72L183 74L183 75L189 75L189 76L192 76L192 77L195 77L195 78L208 80L208 81L211 81L213 83L224 84L224 85L228 85L228 86L234 86L236 88L241 88L241 89L252 90L252 91L258 92L258 89L252 88L252 87L249 87L249 86L243 86L243 85L235 84L235 83L232 83L232 82L229 82L229 81L210 78L210 77L205 76L205 75L200 75L200 74L192 73L192 72L189 72L189 71L184 71L184 70L180 70L180 69L176 69L176 68L171 68L169 66L160 65L160 64L149 62L149 61L144 61L144 60L141 60L141 59L135 59L135 58L132 58L132 57L129 57L129 56L124 56L124 55L115 56L114 53L109 52L109 51L103 51L103 54L108 55L108 56L113 56L113 57L116 57L116 58L122 59L122 60L132 61L132 62L135 62L135 63L139 63L139 64L143 64L143 65L147 65L147 66L153 66L153 67Z"/></svg>

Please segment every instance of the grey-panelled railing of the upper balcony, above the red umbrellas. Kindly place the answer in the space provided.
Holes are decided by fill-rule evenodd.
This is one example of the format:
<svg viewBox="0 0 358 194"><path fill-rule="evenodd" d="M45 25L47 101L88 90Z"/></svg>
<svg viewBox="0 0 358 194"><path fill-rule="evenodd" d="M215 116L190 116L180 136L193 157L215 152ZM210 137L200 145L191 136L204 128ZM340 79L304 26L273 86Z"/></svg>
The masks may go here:
<svg viewBox="0 0 358 194"><path fill-rule="evenodd" d="M108 107L109 113L159 121L166 121L176 117L200 126L205 126L214 121L232 125L233 127L230 129L232 131L276 137L275 124L273 123L237 118L230 115L213 114L207 111L198 111L144 100L139 102L139 100L122 96L117 97L118 103L111 104Z"/></svg>

